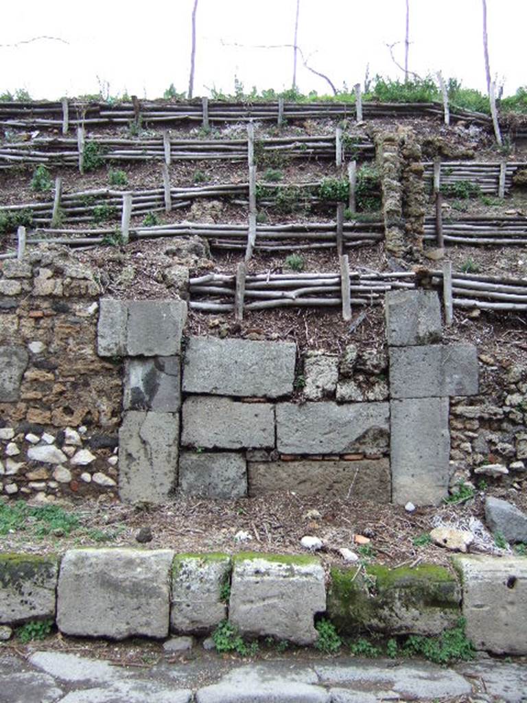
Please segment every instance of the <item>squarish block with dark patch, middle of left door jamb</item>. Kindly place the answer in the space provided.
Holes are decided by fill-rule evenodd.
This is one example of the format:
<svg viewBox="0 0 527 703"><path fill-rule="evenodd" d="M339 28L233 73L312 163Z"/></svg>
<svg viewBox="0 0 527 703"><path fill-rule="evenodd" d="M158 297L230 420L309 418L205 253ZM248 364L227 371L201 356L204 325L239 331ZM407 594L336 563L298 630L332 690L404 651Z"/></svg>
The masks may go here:
<svg viewBox="0 0 527 703"><path fill-rule="evenodd" d="M179 356L128 359L124 371L125 410L176 413L181 407Z"/></svg>

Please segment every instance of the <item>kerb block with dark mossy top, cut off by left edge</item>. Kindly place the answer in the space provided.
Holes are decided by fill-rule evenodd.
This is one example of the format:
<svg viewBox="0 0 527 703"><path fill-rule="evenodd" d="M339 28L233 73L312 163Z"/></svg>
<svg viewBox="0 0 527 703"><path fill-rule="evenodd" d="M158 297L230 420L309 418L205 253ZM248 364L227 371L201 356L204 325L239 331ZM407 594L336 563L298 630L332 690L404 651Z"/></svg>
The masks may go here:
<svg viewBox="0 0 527 703"><path fill-rule="evenodd" d="M0 623L55 617L58 560L0 554Z"/></svg>

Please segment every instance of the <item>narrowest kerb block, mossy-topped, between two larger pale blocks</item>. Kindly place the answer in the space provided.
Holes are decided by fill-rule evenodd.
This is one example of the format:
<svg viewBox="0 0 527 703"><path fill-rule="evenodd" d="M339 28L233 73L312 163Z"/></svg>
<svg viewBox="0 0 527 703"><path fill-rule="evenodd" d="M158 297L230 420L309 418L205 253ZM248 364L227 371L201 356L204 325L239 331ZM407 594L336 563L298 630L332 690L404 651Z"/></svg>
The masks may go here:
<svg viewBox="0 0 527 703"><path fill-rule="evenodd" d="M172 572L171 632L206 634L227 617L222 589L230 581L226 554L176 555Z"/></svg>

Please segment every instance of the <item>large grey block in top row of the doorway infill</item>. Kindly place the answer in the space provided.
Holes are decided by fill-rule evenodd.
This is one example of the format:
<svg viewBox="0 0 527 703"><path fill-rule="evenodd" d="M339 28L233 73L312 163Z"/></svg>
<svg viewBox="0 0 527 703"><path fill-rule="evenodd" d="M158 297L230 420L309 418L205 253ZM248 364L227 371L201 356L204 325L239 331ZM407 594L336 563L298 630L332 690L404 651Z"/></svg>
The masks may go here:
<svg viewBox="0 0 527 703"><path fill-rule="evenodd" d="M183 391L277 398L292 393L296 354L292 342L190 337Z"/></svg>

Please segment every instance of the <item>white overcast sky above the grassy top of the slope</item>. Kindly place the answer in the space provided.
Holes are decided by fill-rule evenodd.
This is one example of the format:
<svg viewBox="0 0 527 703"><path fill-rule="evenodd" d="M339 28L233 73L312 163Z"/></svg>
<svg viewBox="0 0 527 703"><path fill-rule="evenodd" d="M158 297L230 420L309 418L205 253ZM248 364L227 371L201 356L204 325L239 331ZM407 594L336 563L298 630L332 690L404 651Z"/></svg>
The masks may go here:
<svg viewBox="0 0 527 703"><path fill-rule="evenodd" d="M24 0L1 9L0 93L27 89L34 98L110 93L155 98L169 84L186 91L190 65L192 0ZM490 70L505 94L527 84L523 58L527 0L487 0ZM199 0L195 95L216 86L233 91L234 76L250 89L290 87L292 49L251 49L292 44L296 0ZM441 69L464 86L485 89L481 0L410 0L410 69ZM341 88L363 82L366 65L403 77L386 44L403 41L405 0L301 0L298 44L313 68ZM240 46L226 46L242 44ZM403 44L396 47L403 63ZM299 89L330 91L299 61Z"/></svg>

